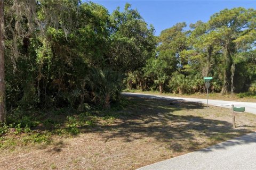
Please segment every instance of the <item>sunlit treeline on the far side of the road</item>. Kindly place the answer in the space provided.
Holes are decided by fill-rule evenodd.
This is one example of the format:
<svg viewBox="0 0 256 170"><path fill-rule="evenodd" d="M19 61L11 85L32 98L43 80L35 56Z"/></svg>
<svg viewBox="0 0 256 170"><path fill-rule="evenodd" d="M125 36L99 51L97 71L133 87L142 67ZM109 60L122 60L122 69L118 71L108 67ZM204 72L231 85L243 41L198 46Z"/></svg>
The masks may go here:
<svg viewBox="0 0 256 170"><path fill-rule="evenodd" d="M129 89L178 94L204 92L203 77L213 77L210 90L233 95L256 92L256 11L222 10L207 22L187 29L177 23L156 38L154 55L127 73Z"/></svg>

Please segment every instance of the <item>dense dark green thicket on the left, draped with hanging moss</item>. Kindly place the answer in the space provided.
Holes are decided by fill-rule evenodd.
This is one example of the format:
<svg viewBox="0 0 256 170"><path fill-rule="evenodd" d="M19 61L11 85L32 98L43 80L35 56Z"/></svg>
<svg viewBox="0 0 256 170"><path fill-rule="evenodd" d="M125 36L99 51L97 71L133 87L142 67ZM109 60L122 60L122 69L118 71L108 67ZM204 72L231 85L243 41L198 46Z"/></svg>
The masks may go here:
<svg viewBox="0 0 256 170"><path fill-rule="evenodd" d="M6 3L6 9L17 3ZM154 28L130 5L111 15L99 4L76 0L30 5L36 9L31 28L6 10L6 24L11 24L6 27L8 111L110 108L119 100L123 71L142 67L154 53ZM9 30L15 23L11 20L21 23L19 28ZM18 29L24 32L17 34ZM17 58L12 57L13 44Z"/></svg>

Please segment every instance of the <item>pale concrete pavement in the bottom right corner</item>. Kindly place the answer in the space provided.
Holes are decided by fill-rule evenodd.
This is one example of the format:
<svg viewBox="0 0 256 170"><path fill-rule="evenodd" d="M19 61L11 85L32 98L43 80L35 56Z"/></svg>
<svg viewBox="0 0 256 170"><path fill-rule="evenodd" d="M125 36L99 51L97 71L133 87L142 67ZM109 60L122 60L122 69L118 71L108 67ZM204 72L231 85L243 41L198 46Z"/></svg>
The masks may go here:
<svg viewBox="0 0 256 170"><path fill-rule="evenodd" d="M256 169L255 157L256 132L139 169Z"/></svg>

